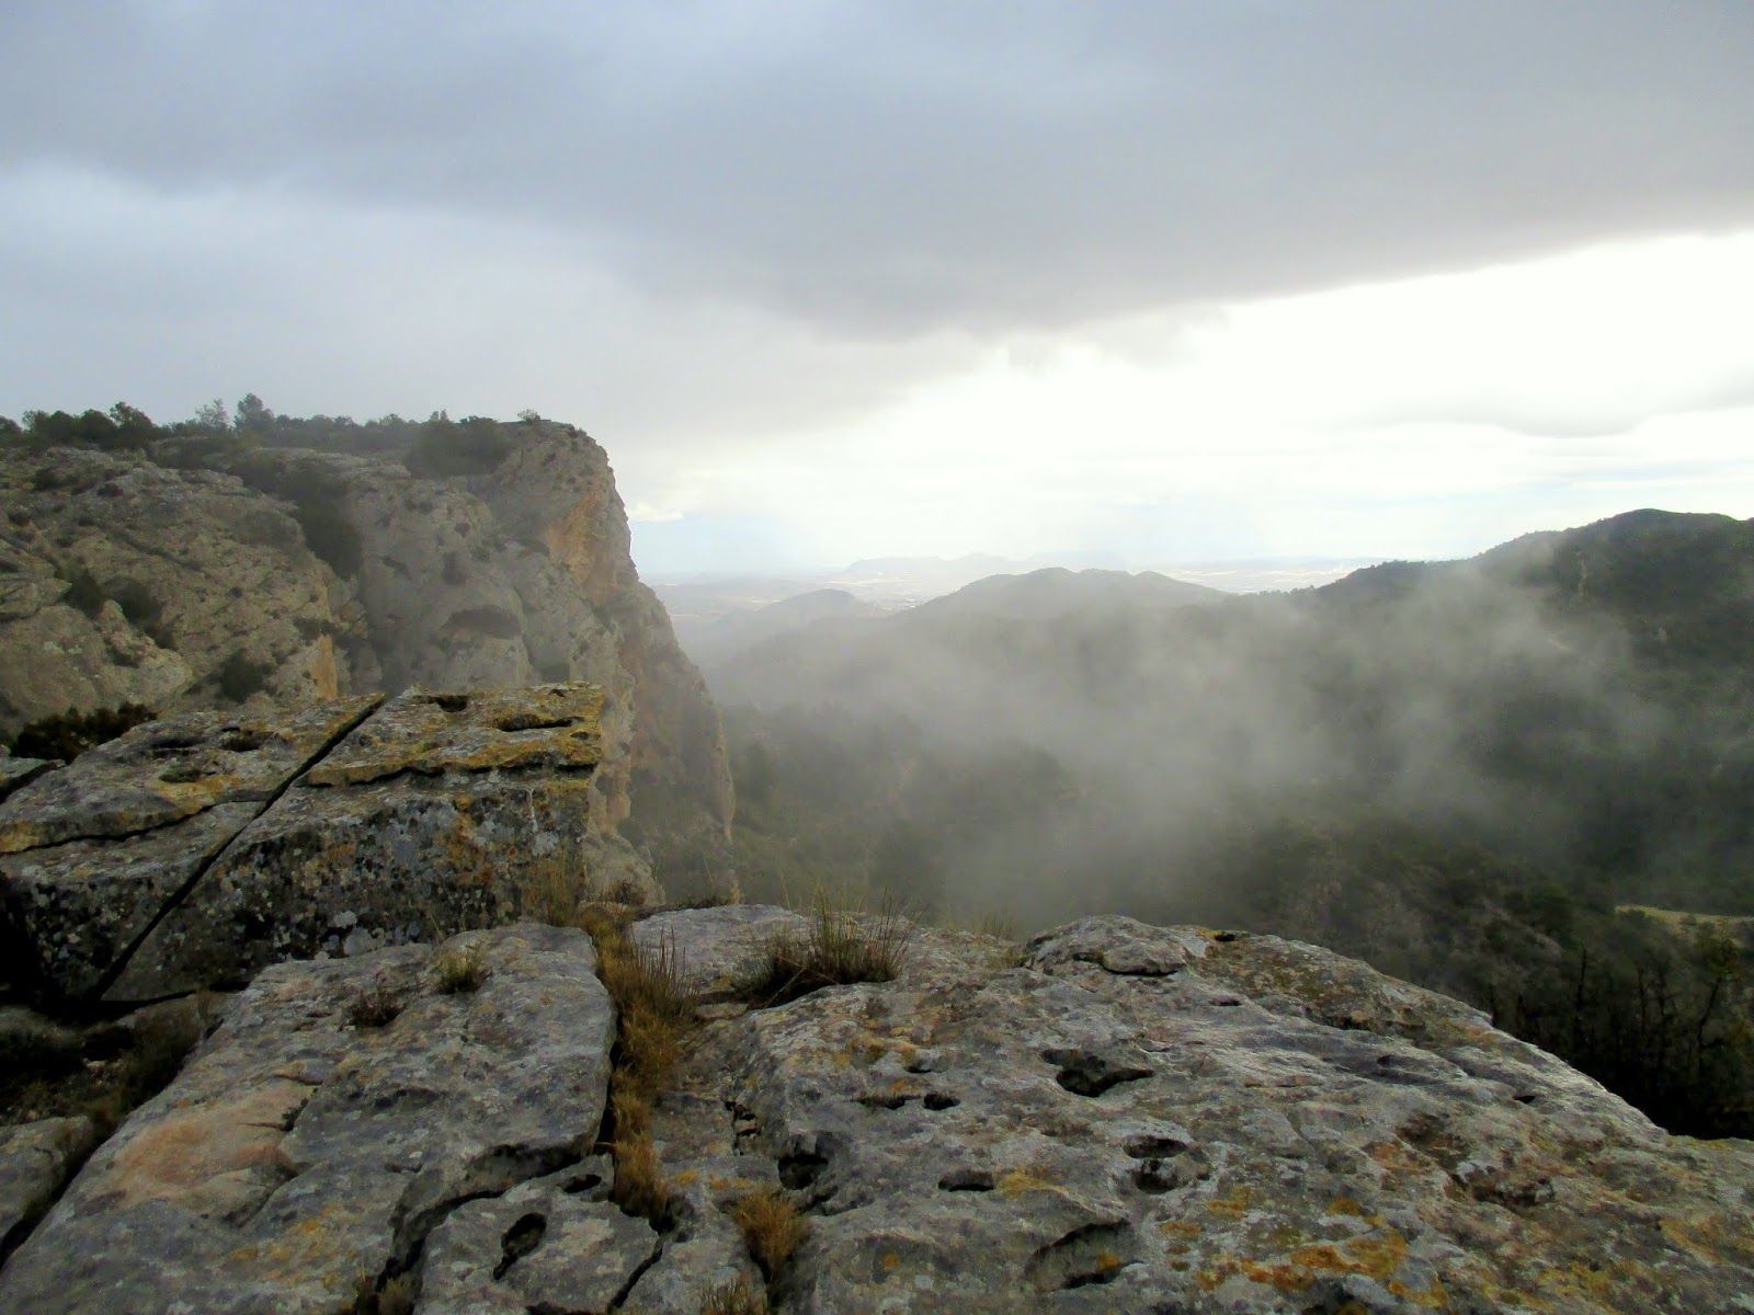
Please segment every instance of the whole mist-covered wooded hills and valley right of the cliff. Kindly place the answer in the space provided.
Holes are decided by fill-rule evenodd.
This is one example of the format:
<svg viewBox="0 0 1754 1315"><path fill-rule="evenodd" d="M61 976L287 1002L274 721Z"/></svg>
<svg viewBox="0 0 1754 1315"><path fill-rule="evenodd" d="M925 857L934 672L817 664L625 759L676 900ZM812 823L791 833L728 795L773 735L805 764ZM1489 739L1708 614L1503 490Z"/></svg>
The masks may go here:
<svg viewBox="0 0 1754 1315"><path fill-rule="evenodd" d="M1615 913L1754 913L1754 526L1633 512L1198 605L1093 584L709 668L745 887L1314 940L1754 1133L1745 933Z"/></svg>

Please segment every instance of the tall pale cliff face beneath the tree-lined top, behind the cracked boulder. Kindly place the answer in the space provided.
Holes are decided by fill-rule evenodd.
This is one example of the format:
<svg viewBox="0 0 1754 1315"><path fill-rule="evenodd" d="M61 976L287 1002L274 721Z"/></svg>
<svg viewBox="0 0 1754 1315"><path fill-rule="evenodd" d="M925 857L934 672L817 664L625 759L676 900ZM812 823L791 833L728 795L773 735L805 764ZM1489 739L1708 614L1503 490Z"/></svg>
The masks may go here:
<svg viewBox="0 0 1754 1315"><path fill-rule="evenodd" d="M293 449L212 470L0 451L0 735L65 712L160 712L588 680L598 791L630 835L710 854L731 817L717 710L638 580L609 459L507 426L482 475ZM710 866L710 864L709 864Z"/></svg>

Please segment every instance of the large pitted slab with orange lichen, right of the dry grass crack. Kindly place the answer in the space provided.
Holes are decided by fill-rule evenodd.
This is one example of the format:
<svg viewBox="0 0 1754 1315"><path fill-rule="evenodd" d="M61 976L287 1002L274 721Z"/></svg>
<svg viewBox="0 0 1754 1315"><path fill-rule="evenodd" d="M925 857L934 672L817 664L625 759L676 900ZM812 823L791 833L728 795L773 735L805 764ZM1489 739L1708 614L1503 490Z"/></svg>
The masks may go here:
<svg viewBox="0 0 1754 1315"><path fill-rule="evenodd" d="M749 935L640 929L702 964ZM1456 1001L1128 919L1005 963L919 931L896 982L696 1034L663 1164L700 1234L791 1191L786 1310L1679 1313L1754 1287L1754 1147L1666 1136Z"/></svg>

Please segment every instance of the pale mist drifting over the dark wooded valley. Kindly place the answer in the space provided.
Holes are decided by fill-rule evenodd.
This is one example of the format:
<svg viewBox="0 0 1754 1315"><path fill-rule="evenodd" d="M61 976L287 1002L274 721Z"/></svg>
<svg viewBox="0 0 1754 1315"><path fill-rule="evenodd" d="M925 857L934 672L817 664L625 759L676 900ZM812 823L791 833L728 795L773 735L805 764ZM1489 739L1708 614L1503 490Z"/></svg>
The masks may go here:
<svg viewBox="0 0 1754 1315"><path fill-rule="evenodd" d="M1673 517L1694 521L1740 528ZM709 663L744 880L831 873L1024 931L1107 910L1254 926L1401 964L1447 935L1401 908L1433 871L1698 896L1701 859L1745 845L1712 801L1747 747L1680 628L1580 577L1628 535L1179 603L1059 572L1058 610L970 589Z"/></svg>

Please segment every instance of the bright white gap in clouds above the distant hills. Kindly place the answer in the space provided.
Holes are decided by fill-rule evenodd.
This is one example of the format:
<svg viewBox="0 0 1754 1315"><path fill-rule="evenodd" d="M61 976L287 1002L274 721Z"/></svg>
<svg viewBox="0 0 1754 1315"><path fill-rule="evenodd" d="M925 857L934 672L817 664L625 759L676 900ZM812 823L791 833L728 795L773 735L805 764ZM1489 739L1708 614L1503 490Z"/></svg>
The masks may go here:
<svg viewBox="0 0 1754 1315"><path fill-rule="evenodd" d="M712 465L633 470L656 570L737 514L796 561L1449 556L1754 514L1754 233L1138 316ZM654 533L660 531L660 533Z"/></svg>

